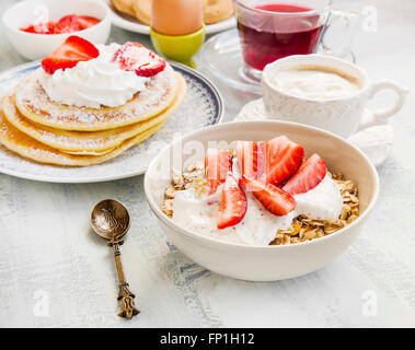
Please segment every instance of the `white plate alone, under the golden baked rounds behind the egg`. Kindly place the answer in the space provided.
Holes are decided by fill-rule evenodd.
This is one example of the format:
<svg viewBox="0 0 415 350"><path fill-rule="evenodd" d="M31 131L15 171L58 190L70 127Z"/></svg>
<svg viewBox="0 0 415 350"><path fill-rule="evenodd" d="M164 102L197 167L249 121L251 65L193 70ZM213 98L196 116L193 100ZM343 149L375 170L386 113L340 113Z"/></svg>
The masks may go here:
<svg viewBox="0 0 415 350"><path fill-rule="evenodd" d="M104 1L111 11L111 20L112 23L120 27L123 30L134 32L134 33L139 33L139 34L150 34L150 26L147 24L140 22L136 18L127 14L127 13L122 13L117 11L111 0L102 0ZM212 23L212 24L206 24L206 34L215 34L215 33L220 33L223 31L231 30L237 26L237 20L234 16L229 18L228 20L218 22L218 23Z"/></svg>

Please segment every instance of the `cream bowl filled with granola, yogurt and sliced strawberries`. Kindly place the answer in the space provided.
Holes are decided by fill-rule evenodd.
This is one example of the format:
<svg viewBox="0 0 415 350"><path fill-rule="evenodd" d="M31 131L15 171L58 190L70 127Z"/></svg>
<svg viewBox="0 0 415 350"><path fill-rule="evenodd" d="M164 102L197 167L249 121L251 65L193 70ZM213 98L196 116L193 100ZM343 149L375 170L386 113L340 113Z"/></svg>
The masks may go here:
<svg viewBox="0 0 415 350"><path fill-rule="evenodd" d="M168 238L207 269L250 281L315 271L362 231L379 178L334 133L288 121L240 121L165 147L145 176Z"/></svg>

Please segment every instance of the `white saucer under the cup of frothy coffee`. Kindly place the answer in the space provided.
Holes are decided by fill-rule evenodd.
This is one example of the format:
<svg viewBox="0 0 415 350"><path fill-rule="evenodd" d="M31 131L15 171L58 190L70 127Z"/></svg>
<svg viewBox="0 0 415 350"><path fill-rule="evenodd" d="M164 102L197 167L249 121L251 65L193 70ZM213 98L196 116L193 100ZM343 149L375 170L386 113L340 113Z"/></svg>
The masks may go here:
<svg viewBox="0 0 415 350"><path fill-rule="evenodd" d="M372 113L366 108L362 121L371 118ZM268 119L268 116L265 110L264 101L258 98L244 105L233 121L262 119ZM392 148L393 137L392 126L384 124L358 131L348 137L347 140L357 145L370 159L373 165L379 166L384 162Z"/></svg>

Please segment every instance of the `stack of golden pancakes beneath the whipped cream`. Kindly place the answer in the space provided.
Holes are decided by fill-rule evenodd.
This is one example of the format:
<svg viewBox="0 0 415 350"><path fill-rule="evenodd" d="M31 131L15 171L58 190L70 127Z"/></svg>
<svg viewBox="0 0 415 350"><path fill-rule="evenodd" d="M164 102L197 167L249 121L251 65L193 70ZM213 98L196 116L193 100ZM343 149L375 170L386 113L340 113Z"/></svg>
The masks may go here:
<svg viewBox="0 0 415 350"><path fill-rule="evenodd" d="M37 77L36 70L2 97L0 143L25 159L60 166L100 164L142 142L186 92L184 78L168 66L125 105L76 107L51 101Z"/></svg>

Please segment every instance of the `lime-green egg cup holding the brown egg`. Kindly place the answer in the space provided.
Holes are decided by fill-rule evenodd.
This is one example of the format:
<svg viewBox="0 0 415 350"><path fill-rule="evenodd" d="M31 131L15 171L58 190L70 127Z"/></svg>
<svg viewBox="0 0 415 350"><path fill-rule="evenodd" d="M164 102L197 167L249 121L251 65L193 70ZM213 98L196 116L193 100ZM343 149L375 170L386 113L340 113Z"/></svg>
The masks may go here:
<svg viewBox="0 0 415 350"><path fill-rule="evenodd" d="M150 30L151 43L165 58L195 68L193 56L205 42L205 24L195 33L187 35L164 35Z"/></svg>

